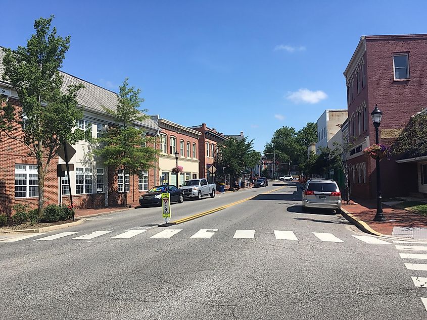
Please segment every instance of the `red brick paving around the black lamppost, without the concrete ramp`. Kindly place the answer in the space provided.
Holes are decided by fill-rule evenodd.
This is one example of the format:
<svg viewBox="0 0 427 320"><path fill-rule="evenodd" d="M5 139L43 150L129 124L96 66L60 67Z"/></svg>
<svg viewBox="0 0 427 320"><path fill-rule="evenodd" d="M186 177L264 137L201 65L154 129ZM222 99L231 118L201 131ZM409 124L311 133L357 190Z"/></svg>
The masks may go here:
<svg viewBox="0 0 427 320"><path fill-rule="evenodd" d="M350 204L343 205L343 209L368 224L369 227L376 232L391 235L393 233L393 227L404 227L408 229L427 227L427 217L422 217L403 209L394 209L384 203L383 212L387 221L373 221L376 213L376 202L363 200L357 200L357 202L358 203L350 201Z"/></svg>

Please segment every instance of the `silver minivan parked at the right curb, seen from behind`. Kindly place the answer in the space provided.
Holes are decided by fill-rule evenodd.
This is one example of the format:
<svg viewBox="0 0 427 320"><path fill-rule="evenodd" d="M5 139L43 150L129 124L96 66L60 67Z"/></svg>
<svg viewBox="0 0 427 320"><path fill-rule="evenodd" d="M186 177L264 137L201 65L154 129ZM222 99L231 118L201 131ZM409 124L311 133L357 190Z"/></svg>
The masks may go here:
<svg viewBox="0 0 427 320"><path fill-rule="evenodd" d="M341 191L337 183L330 179L310 179L303 189L303 211L309 208L334 209L341 212Z"/></svg>

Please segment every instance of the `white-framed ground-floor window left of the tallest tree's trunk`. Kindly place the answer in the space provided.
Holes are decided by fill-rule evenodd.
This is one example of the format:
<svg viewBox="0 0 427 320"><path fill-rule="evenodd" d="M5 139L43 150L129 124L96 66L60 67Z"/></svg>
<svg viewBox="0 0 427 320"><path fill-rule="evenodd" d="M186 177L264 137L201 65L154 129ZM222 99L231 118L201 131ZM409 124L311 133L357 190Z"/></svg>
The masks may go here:
<svg viewBox="0 0 427 320"><path fill-rule="evenodd" d="M38 197L37 166L15 165L15 198Z"/></svg>

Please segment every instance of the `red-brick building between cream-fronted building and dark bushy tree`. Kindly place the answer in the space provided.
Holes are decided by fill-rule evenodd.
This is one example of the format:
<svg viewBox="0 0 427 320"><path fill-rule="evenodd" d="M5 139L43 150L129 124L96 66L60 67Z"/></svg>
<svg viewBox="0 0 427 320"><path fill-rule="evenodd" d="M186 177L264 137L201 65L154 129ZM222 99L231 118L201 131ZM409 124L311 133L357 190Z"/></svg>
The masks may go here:
<svg viewBox="0 0 427 320"><path fill-rule="evenodd" d="M208 128L205 123L189 128L201 132L199 138L199 177L206 178L209 183L213 183L214 177L208 169L216 162L218 143L222 143L228 138L222 132L216 131L215 128Z"/></svg>

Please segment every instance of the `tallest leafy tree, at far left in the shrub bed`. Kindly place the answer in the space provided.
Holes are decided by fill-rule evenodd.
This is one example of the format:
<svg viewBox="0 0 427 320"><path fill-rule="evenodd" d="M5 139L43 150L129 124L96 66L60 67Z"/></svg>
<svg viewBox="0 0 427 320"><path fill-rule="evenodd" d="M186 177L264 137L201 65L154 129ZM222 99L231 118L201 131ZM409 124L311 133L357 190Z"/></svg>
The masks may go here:
<svg viewBox="0 0 427 320"><path fill-rule="evenodd" d="M77 91L82 85L61 90L63 79L59 68L69 48L70 37L57 36L51 28L54 16L35 21L35 34L27 45L16 50L5 49L4 81L17 91L21 108L8 102L0 109L0 130L24 145L37 161L38 214L44 206L44 181L49 165L64 141L76 143L81 130L73 130L82 112L76 107ZM23 117L25 116L25 121Z"/></svg>

